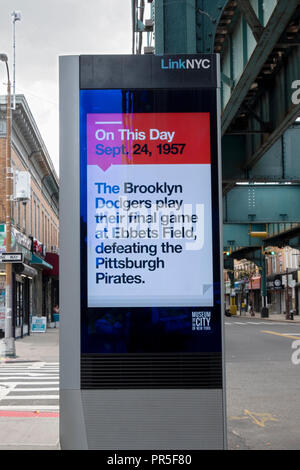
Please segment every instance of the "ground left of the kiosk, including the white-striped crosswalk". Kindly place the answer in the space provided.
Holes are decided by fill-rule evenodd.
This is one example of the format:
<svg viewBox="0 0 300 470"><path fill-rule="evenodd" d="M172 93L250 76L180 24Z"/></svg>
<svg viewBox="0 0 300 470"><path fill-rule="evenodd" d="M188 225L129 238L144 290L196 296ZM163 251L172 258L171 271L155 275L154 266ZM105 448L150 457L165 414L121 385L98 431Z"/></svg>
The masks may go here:
<svg viewBox="0 0 300 470"><path fill-rule="evenodd" d="M0 358L0 450L59 450L59 328Z"/></svg>

